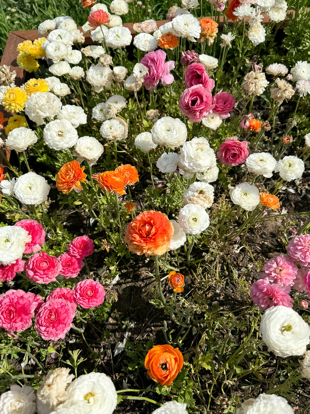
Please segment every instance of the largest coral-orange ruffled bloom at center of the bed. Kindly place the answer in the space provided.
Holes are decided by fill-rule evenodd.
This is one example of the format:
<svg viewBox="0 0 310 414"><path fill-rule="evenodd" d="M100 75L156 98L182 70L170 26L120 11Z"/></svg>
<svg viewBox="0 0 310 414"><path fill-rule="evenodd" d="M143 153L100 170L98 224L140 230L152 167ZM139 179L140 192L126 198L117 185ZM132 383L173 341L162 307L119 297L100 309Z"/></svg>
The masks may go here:
<svg viewBox="0 0 310 414"><path fill-rule="evenodd" d="M129 250L137 255L163 255L170 250L173 233L173 224L166 214L150 210L139 214L128 224L125 241Z"/></svg>

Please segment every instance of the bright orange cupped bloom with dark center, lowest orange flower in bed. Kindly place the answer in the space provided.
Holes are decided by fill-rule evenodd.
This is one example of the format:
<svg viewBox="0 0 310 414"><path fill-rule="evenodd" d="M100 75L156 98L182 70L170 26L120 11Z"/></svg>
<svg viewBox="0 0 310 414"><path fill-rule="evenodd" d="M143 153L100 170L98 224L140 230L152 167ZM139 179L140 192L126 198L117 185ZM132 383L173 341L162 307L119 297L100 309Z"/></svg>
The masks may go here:
<svg viewBox="0 0 310 414"><path fill-rule="evenodd" d="M183 367L183 355L171 345L155 345L145 356L144 366L152 380L170 385Z"/></svg>

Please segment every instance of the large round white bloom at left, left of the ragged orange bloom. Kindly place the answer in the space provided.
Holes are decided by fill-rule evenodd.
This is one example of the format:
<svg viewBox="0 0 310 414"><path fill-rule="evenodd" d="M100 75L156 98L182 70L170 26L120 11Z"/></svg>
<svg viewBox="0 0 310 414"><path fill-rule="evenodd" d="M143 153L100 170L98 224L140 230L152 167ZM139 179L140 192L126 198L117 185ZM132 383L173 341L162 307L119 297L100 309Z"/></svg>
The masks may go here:
<svg viewBox="0 0 310 414"><path fill-rule="evenodd" d="M48 199L50 186L44 177L30 171L16 180L14 193L24 204L41 204Z"/></svg>

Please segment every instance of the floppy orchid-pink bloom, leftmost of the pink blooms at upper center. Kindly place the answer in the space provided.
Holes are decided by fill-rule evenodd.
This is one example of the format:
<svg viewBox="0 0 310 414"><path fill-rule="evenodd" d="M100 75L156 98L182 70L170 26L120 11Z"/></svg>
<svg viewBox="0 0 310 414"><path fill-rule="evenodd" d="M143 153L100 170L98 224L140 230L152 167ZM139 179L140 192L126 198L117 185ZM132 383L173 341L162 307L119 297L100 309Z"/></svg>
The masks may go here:
<svg viewBox="0 0 310 414"><path fill-rule="evenodd" d="M169 73L174 69L174 61L169 60L165 63L166 53L162 50L148 52L140 61L148 68L148 74L144 77L143 85L148 91L156 89L158 82L161 80L164 86L174 81L173 75Z"/></svg>

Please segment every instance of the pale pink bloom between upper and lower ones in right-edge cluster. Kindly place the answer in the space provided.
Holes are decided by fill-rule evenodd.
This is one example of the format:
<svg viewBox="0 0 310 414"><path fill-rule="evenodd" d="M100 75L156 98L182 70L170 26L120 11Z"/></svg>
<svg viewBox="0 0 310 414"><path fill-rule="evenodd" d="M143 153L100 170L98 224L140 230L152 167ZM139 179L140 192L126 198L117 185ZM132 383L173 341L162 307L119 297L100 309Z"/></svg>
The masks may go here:
<svg viewBox="0 0 310 414"><path fill-rule="evenodd" d="M268 277L270 282L279 283L281 286L293 286L298 267L284 255L268 260L263 266L262 277Z"/></svg>

